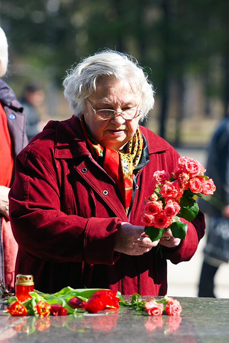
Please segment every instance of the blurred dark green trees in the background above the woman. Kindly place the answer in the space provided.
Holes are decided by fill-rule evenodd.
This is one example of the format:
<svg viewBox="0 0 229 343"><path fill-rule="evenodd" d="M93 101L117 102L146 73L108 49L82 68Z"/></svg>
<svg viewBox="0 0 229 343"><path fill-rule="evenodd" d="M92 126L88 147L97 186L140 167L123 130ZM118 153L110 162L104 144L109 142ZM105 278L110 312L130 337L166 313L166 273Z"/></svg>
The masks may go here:
<svg viewBox="0 0 229 343"><path fill-rule="evenodd" d="M229 1L217 0L0 0L7 82L19 94L41 81L55 115L67 69L105 47L124 51L153 81L158 133L179 145L183 122L228 110L228 13Z"/></svg>

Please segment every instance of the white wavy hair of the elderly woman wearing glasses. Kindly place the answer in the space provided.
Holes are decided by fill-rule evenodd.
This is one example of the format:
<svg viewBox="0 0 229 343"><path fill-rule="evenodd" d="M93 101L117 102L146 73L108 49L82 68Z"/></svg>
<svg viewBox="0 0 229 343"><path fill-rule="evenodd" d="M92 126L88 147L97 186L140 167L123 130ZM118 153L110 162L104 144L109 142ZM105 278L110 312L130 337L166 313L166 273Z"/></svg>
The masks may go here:
<svg viewBox="0 0 229 343"><path fill-rule="evenodd" d="M147 117L149 110L153 108L155 93L148 75L132 56L113 50L86 57L76 67L67 71L63 82L64 96L75 116L82 115L85 101L90 94L95 93L97 81L101 77L128 81L132 89L139 90L142 111L139 119Z"/></svg>

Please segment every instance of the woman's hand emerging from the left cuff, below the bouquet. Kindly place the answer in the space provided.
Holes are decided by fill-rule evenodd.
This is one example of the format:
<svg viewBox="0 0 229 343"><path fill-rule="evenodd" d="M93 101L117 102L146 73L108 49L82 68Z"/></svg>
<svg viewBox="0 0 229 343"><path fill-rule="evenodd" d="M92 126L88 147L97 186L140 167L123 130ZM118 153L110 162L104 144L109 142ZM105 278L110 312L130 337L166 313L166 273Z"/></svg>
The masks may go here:
<svg viewBox="0 0 229 343"><path fill-rule="evenodd" d="M159 240L152 242L144 232L143 226L121 223L114 250L126 255L142 255L158 245Z"/></svg>

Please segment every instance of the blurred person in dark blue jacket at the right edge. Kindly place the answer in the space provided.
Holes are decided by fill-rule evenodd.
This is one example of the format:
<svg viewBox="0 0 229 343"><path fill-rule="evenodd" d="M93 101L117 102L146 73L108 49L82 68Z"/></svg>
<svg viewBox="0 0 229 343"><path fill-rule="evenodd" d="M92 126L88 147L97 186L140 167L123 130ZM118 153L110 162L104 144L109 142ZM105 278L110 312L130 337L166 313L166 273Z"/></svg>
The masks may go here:
<svg viewBox="0 0 229 343"><path fill-rule="evenodd" d="M209 201L199 200L200 209L209 215L199 297L215 298L214 277L219 266L229 261L229 117L223 119L212 137L206 174L214 179L216 192Z"/></svg>

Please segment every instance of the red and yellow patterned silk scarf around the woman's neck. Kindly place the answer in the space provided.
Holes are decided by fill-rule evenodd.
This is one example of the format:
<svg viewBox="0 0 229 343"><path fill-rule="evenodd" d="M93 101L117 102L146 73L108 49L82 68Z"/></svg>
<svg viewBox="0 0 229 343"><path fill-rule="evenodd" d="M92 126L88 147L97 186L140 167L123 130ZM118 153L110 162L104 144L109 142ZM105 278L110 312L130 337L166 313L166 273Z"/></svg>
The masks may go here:
<svg viewBox="0 0 229 343"><path fill-rule="evenodd" d="M131 140L127 143L126 154L102 147L87 132L81 119L82 129L90 150L98 163L102 163L105 171L114 179L124 201L126 214L131 202L133 188L133 170L137 167L143 149L143 139L139 126Z"/></svg>

